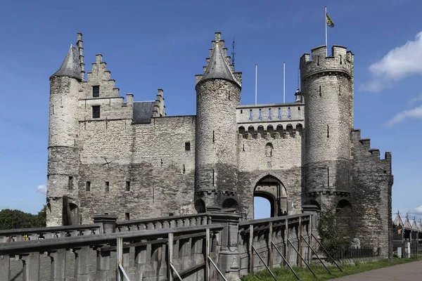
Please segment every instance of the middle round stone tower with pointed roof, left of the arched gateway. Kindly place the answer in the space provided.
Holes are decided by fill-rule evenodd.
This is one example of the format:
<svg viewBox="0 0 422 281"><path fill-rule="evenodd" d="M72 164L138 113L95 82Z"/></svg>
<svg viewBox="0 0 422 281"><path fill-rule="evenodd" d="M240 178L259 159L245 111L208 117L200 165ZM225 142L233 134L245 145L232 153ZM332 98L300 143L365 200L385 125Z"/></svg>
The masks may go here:
<svg viewBox="0 0 422 281"><path fill-rule="evenodd" d="M236 107L239 73L229 65L221 34L215 34L203 75L196 76L195 207L238 208ZM236 78L237 79L236 79Z"/></svg>

